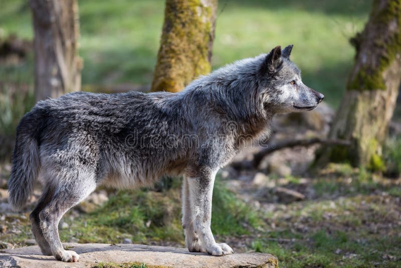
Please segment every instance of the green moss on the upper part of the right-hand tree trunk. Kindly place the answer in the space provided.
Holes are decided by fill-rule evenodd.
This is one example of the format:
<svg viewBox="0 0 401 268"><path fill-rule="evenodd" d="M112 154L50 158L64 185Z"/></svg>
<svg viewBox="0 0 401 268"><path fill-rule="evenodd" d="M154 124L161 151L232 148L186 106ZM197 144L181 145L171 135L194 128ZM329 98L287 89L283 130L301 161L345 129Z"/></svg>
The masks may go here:
<svg viewBox="0 0 401 268"><path fill-rule="evenodd" d="M378 27L378 29L374 29L373 31L378 32L381 30L383 33L386 33L389 25L395 21L397 23L397 30L393 34L386 35L385 37L381 36L382 32L377 33L378 36L376 40L369 40L371 34L367 32L372 31L372 26L370 25L368 28L368 23L364 32L353 39L352 42L357 48L357 53L359 53L360 42L372 42L372 44L370 44L370 46L372 46L372 55L368 56L377 57L378 64L372 66L369 61L369 63L361 66L358 72L353 75L353 77L350 77L347 85L348 89L386 89L383 72L392 64L397 53L401 51L401 2L399 0L391 0L386 3L387 6L379 10L378 6L381 5L381 2L377 0L373 2L369 23Z"/></svg>

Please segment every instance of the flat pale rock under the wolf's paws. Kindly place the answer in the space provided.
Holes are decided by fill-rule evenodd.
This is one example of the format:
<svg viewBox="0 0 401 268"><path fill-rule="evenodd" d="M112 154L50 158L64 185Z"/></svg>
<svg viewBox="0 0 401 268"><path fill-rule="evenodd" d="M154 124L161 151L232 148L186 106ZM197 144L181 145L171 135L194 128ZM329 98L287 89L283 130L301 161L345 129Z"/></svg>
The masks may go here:
<svg viewBox="0 0 401 268"><path fill-rule="evenodd" d="M234 253L221 257L191 253L186 248L138 244L63 243L76 251L79 262L61 262L42 255L38 246L0 250L0 267L92 267L99 262L140 262L161 267L278 267L277 258L267 253Z"/></svg>

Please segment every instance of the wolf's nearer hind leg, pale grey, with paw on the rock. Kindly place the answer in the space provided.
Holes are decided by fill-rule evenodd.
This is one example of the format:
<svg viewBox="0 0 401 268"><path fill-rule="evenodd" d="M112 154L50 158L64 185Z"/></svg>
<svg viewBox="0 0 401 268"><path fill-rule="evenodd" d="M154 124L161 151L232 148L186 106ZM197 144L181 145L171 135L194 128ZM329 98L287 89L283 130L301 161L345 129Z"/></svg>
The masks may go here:
<svg viewBox="0 0 401 268"><path fill-rule="evenodd" d="M79 175L60 179L57 191L49 204L39 213L41 229L51 252L57 260L78 261L79 255L72 250L64 250L61 244L58 224L68 209L85 199L96 188L95 176L79 170Z"/></svg>

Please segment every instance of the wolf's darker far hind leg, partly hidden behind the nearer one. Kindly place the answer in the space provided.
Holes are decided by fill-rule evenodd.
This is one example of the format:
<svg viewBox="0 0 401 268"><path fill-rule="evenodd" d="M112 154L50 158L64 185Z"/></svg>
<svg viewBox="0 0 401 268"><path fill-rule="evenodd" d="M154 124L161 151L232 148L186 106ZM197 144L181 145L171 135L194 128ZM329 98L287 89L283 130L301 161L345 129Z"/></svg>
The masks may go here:
<svg viewBox="0 0 401 268"><path fill-rule="evenodd" d="M52 251L50 250L49 243L43 236L43 232L40 227L39 213L52 200L54 195L54 190L55 189L52 188L51 186L45 187L42 196L39 199L38 204L36 205L32 213L29 215L29 219L31 221L31 226L32 226L32 232L34 233L35 239L38 242L38 245L44 255L52 255Z"/></svg>

